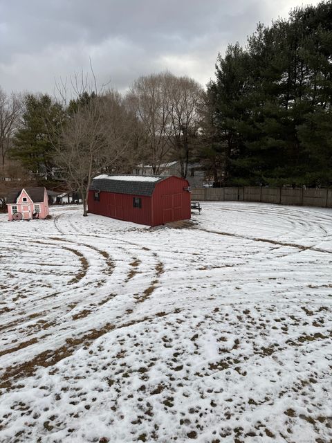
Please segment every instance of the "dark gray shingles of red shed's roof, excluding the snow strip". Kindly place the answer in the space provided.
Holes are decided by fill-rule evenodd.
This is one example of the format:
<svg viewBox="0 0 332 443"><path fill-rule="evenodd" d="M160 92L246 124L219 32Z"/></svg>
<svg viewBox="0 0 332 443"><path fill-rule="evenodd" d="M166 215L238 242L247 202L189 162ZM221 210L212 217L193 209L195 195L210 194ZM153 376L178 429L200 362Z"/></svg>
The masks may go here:
<svg viewBox="0 0 332 443"><path fill-rule="evenodd" d="M92 184L90 186L90 190L100 190L100 191L107 191L107 192L116 192L117 194L130 194L130 195L144 195L151 197L152 193L154 192L154 188L156 186L156 183L159 183L160 181L163 181L165 179L168 179L169 177L155 177L156 181L141 181L140 177L137 176L138 179L135 181L135 178L133 176L132 179L128 180L114 180L111 179L111 175L109 176L110 179L93 179ZM119 177L118 175L115 177ZM126 177L126 176L123 176ZM147 177L147 176L145 176ZM153 176L149 176L153 177Z"/></svg>

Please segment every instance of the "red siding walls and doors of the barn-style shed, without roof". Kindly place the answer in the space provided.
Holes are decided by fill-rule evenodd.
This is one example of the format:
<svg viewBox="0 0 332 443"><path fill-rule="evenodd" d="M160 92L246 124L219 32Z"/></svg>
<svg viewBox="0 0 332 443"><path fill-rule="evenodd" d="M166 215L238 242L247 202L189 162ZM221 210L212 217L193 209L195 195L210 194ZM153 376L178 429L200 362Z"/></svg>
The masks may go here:
<svg viewBox="0 0 332 443"><path fill-rule="evenodd" d="M169 177L159 183L152 197L100 192L100 201L89 191L89 212L133 223L158 226L169 221L190 219L190 192L183 190L189 183L179 177ZM133 208L133 197L140 197L141 208Z"/></svg>

